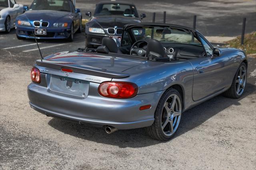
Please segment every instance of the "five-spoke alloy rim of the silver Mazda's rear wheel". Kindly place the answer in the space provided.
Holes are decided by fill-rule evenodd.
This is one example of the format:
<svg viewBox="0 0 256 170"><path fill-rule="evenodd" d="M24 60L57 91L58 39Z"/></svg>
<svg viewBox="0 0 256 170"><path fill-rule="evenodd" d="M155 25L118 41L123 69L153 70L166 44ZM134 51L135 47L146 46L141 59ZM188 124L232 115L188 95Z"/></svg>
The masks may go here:
<svg viewBox="0 0 256 170"><path fill-rule="evenodd" d="M170 95L165 101L162 109L161 126L162 132L166 136L171 136L176 132L181 117L181 101L176 94Z"/></svg>

